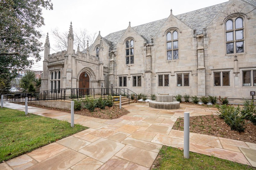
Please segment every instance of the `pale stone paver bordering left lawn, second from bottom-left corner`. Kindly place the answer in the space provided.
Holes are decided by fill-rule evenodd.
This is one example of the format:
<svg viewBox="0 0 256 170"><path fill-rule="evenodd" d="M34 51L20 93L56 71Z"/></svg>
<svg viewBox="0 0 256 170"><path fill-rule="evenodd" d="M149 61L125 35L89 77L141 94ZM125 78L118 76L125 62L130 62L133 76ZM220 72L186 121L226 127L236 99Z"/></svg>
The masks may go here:
<svg viewBox="0 0 256 170"><path fill-rule="evenodd" d="M37 164L37 162L33 160L31 157L29 157L27 154L8 160L6 163L9 166L11 166L14 170L27 169Z"/></svg>

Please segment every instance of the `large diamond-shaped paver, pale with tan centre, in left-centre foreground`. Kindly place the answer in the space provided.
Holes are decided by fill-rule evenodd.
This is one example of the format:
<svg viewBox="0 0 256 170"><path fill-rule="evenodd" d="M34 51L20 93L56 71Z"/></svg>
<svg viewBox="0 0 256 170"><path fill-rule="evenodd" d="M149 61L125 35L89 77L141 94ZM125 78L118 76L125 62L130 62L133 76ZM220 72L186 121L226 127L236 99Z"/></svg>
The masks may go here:
<svg viewBox="0 0 256 170"><path fill-rule="evenodd" d="M92 144L80 149L78 152L104 163L112 158L114 154L120 151L124 146L124 144L119 142L100 138Z"/></svg>

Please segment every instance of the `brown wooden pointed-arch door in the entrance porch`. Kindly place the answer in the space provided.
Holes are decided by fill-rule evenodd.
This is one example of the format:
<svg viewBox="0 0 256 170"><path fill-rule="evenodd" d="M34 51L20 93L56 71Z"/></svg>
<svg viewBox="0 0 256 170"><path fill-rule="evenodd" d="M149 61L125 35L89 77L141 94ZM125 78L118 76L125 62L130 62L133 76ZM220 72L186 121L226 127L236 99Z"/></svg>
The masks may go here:
<svg viewBox="0 0 256 170"><path fill-rule="evenodd" d="M90 78L86 72L82 72L79 76L79 96L89 95Z"/></svg>

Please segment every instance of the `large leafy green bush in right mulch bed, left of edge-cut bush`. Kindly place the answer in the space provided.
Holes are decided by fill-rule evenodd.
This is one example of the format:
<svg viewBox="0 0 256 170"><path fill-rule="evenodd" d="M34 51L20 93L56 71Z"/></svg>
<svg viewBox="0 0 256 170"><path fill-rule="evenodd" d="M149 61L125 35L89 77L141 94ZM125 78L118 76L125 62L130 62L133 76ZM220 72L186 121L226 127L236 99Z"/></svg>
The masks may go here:
<svg viewBox="0 0 256 170"><path fill-rule="evenodd" d="M220 116L220 118L223 118L224 121L228 124L231 130L235 130L238 132L243 132L246 123L244 121L245 115L241 114L241 108L239 107L233 107L229 105L216 105L216 107L219 109L219 112L217 112Z"/></svg>

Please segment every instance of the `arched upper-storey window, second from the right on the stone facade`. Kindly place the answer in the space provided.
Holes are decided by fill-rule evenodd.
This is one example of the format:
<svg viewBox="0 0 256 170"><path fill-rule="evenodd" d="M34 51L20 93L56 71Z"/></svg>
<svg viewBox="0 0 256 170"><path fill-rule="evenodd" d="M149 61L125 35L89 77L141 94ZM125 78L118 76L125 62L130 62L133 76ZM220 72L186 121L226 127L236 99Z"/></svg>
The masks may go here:
<svg viewBox="0 0 256 170"><path fill-rule="evenodd" d="M168 31L166 34L166 54L167 60L179 59L178 32Z"/></svg>

